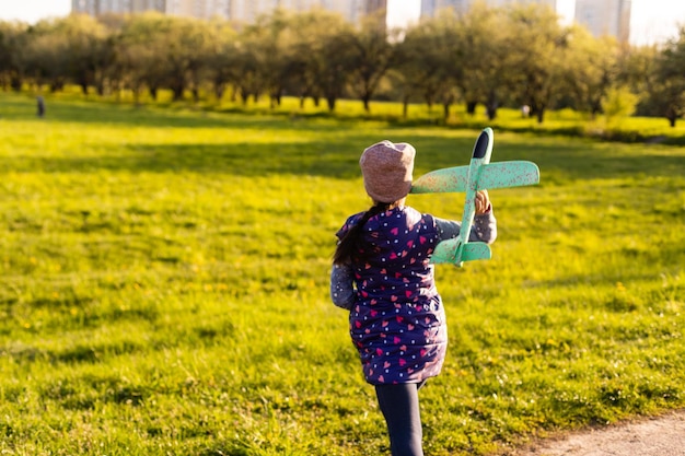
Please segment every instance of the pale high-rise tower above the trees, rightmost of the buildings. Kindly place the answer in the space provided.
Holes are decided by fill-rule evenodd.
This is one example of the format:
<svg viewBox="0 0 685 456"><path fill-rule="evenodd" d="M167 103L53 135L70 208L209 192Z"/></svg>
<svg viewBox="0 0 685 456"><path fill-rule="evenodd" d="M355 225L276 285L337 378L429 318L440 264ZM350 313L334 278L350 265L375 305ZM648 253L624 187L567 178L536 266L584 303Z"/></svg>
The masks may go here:
<svg viewBox="0 0 685 456"><path fill-rule="evenodd" d="M630 0L576 0L576 22L596 37L609 35L628 43L630 3Z"/></svg>

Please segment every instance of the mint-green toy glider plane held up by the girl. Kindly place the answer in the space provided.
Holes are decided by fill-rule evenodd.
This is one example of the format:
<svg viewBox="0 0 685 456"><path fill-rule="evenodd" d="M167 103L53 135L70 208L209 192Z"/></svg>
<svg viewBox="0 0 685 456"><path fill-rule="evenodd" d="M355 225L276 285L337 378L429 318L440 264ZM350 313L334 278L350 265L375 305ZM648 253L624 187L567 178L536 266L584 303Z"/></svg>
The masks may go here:
<svg viewBox="0 0 685 456"><path fill-rule="evenodd" d="M453 262L490 259L490 246L481 242L468 242L476 214L475 198L478 190L519 187L539 182L539 169L533 162L512 161L490 163L492 129L480 132L474 145L468 166L437 169L422 175L411 185L413 194L442 194L466 191L466 203L458 237L443 241L436 246L431 262Z"/></svg>

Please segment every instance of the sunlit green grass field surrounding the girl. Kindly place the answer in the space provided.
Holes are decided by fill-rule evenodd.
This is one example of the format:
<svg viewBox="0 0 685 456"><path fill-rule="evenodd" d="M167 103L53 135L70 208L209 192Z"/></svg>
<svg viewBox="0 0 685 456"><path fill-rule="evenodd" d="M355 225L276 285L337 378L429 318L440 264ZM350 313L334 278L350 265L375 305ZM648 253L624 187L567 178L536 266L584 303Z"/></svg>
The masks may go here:
<svg viewBox="0 0 685 456"><path fill-rule="evenodd" d="M328 300L334 233L369 206L364 147L411 142L418 176L466 164L477 129L34 107L0 93L2 454L388 453ZM491 260L438 270L427 455L685 406L685 148L496 127L506 160L541 185L491 191ZM458 220L463 195L409 203Z"/></svg>

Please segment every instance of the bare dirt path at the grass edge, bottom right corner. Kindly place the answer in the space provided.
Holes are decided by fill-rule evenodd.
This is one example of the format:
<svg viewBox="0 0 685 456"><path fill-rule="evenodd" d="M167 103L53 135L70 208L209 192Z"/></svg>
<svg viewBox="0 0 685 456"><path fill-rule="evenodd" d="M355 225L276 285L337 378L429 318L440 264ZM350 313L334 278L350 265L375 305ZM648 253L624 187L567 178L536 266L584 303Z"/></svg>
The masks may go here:
<svg viewBox="0 0 685 456"><path fill-rule="evenodd" d="M538 441L512 456L685 456L685 410Z"/></svg>

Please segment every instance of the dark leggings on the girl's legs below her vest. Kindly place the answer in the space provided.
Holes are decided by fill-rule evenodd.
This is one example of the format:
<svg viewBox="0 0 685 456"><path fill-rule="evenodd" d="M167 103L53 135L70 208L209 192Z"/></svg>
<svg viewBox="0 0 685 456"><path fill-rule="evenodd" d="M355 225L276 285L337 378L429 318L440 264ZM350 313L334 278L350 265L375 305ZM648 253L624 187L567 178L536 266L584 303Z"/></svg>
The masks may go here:
<svg viewBox="0 0 685 456"><path fill-rule="evenodd" d="M419 388L423 383L376 385L393 456L423 456Z"/></svg>

